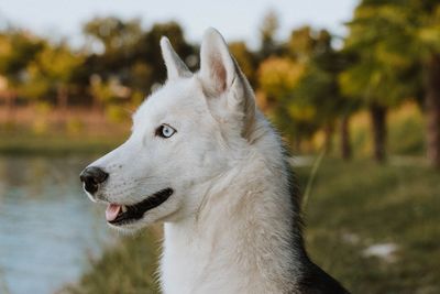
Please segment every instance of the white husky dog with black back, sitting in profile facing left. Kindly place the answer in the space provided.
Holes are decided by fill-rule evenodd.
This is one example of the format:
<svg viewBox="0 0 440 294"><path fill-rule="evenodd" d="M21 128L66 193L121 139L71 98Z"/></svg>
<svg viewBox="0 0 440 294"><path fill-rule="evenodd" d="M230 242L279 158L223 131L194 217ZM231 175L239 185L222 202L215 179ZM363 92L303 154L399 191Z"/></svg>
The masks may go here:
<svg viewBox="0 0 440 294"><path fill-rule="evenodd" d="M165 85L125 143L80 175L122 231L164 224L166 294L346 293L308 258L282 140L223 37L209 29L191 73L161 40Z"/></svg>

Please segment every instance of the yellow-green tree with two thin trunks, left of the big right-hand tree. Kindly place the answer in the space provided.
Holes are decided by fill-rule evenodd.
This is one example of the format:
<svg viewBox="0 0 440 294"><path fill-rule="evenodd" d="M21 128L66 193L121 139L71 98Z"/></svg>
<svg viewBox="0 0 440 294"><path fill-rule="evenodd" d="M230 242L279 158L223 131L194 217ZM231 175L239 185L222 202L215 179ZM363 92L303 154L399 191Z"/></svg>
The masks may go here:
<svg viewBox="0 0 440 294"><path fill-rule="evenodd" d="M315 106L316 123L326 134L324 150L330 151L337 120L341 118L342 157L351 155L349 116L354 107L342 96L338 75L345 66L345 56L332 47L332 36L326 30L315 32L308 26L294 31L287 43L288 53L306 64L306 70L295 88L295 99L307 99Z"/></svg>

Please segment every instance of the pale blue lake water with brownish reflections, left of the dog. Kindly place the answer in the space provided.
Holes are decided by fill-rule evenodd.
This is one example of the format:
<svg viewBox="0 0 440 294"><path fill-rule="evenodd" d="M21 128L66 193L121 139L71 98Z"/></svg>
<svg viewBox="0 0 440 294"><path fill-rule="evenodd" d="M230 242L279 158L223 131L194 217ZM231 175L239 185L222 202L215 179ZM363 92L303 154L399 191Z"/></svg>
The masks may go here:
<svg viewBox="0 0 440 294"><path fill-rule="evenodd" d="M0 293L54 293L116 238L80 187L90 161L0 156Z"/></svg>

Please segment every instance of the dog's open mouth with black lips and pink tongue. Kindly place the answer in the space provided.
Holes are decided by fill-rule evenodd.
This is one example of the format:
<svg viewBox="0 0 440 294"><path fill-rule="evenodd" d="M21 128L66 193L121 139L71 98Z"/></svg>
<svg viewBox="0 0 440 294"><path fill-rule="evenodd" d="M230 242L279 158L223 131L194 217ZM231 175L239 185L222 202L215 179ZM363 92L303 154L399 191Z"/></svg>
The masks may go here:
<svg viewBox="0 0 440 294"><path fill-rule="evenodd" d="M134 205L109 204L106 219L113 226L122 226L141 219L144 214L166 202L173 194L172 188L162 189Z"/></svg>

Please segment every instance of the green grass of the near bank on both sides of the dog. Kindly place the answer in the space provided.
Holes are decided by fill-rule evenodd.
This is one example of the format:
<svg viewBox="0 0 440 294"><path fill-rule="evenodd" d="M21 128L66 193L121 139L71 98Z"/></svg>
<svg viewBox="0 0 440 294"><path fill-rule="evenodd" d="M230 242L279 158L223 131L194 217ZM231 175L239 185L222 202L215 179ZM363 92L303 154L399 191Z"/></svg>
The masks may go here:
<svg viewBox="0 0 440 294"><path fill-rule="evenodd" d="M310 167L297 167L304 189ZM352 293L440 293L440 174L422 162L324 159L307 203L311 258ZM157 293L153 233L129 237L92 262L70 293ZM395 243L394 259L365 257Z"/></svg>

